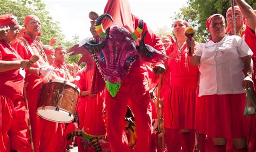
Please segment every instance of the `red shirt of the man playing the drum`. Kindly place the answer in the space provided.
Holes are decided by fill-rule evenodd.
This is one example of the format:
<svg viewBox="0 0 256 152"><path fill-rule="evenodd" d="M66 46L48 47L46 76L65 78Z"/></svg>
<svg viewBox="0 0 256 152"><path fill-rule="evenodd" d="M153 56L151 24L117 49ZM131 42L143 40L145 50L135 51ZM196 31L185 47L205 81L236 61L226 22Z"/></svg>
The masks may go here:
<svg viewBox="0 0 256 152"><path fill-rule="evenodd" d="M18 54L23 58L29 60L32 56L29 48L27 47L24 39L28 41L28 44L32 48L34 54L39 54L38 63L40 66L49 66L49 63L46 59L46 55L42 48L42 42L39 40L32 40L28 34L22 35L21 38L17 39L14 43L14 48L17 50ZM38 64L34 64L33 68L38 68ZM26 74L25 81L28 82L28 88L35 88L36 86L42 87L43 82L45 81L44 76L38 76L35 74Z"/></svg>

